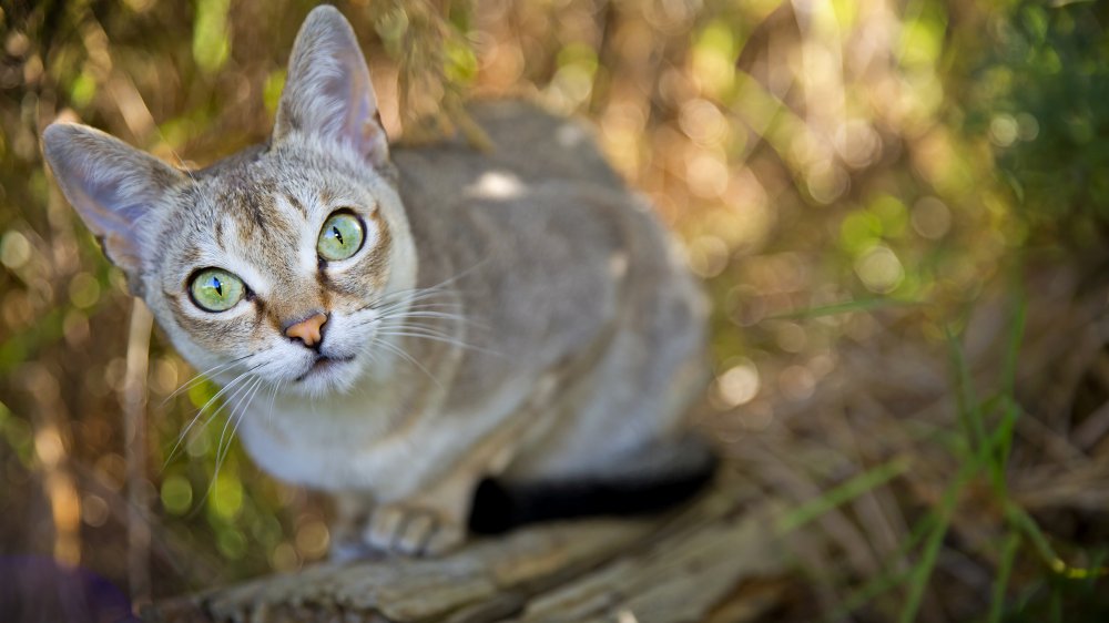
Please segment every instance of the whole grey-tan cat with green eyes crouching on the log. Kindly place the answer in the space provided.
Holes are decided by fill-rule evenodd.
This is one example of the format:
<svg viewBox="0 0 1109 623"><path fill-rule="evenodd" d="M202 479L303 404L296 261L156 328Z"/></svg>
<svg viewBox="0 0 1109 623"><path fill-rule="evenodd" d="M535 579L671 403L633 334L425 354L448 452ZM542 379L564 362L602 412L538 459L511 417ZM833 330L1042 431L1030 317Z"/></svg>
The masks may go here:
<svg viewBox="0 0 1109 623"><path fill-rule="evenodd" d="M323 6L265 144L184 171L88 126L43 133L247 453L335 496L338 558L649 510L711 472L683 423L708 306L651 207L577 123L518 101L470 113L488 153L390 149L354 31Z"/></svg>

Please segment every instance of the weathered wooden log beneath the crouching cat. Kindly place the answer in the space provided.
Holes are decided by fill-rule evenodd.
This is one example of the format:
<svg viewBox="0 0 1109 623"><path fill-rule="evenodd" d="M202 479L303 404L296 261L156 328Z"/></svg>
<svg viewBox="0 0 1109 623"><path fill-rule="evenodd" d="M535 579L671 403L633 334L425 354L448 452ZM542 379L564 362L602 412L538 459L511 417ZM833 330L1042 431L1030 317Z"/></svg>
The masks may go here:
<svg viewBox="0 0 1109 623"><path fill-rule="evenodd" d="M679 623L752 617L774 605L779 505L732 466L663 517L535 525L441 559L321 564L147 607L146 621ZM740 613L743 613L742 615Z"/></svg>

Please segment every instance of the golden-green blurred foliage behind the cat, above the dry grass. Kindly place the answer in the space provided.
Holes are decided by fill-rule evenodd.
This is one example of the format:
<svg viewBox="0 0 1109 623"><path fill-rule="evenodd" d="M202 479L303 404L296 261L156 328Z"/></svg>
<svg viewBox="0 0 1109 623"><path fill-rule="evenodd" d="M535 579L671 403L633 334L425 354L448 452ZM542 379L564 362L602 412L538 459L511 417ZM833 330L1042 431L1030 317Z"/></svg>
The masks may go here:
<svg viewBox="0 0 1109 623"><path fill-rule="evenodd" d="M312 4L3 6L3 552L128 582L119 413L131 300L49 180L39 133L80 120L185 166L264 140ZM708 284L706 402L725 441L803 405L838 365L836 345L883 330L882 309L909 310L905 340L943 345L1029 241L1103 244L1105 3L1057 4L338 2L393 136L472 136L465 98L528 98L596 124ZM154 340L138 483L154 592L319 559L322 500L268 479L237 446L216 474L226 420L193 374Z"/></svg>

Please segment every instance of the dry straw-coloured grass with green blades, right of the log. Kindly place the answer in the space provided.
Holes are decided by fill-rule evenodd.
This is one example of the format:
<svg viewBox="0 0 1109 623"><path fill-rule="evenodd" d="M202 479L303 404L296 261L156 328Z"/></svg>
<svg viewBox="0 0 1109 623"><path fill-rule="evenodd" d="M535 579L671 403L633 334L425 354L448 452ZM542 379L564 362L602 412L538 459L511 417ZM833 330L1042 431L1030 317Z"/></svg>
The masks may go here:
<svg viewBox="0 0 1109 623"><path fill-rule="evenodd" d="M757 398L765 427L706 418L767 492L826 511L793 540L817 612L1105 615L1109 283L1060 259L994 284L948 344L875 314L810 396Z"/></svg>

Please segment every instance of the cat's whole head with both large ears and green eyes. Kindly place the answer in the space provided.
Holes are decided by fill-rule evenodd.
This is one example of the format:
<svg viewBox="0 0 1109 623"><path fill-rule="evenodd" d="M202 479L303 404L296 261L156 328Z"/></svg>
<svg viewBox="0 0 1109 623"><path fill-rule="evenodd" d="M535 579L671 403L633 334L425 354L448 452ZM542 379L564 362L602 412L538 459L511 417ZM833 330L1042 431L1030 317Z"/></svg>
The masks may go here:
<svg viewBox="0 0 1109 623"><path fill-rule="evenodd" d="M297 35L265 146L186 172L83 125L43 140L70 203L202 371L346 389L383 307L414 285L369 72L334 8Z"/></svg>

